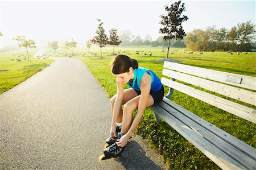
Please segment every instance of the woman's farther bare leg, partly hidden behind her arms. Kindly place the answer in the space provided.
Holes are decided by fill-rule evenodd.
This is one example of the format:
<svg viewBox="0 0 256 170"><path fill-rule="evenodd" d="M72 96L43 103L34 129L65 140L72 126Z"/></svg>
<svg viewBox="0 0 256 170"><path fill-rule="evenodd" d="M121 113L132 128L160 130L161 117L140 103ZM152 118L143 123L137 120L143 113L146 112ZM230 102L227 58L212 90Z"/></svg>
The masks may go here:
<svg viewBox="0 0 256 170"><path fill-rule="evenodd" d="M137 92L133 88L125 89L123 90L123 102L122 105L125 104L127 101L130 99L138 96ZM115 99L117 98L117 94L115 94L111 99L110 99L110 105L111 105L111 112L113 114L113 109L114 109L114 103ZM122 122L122 115L123 115L123 110L122 108L119 111L119 115L117 117L117 123Z"/></svg>

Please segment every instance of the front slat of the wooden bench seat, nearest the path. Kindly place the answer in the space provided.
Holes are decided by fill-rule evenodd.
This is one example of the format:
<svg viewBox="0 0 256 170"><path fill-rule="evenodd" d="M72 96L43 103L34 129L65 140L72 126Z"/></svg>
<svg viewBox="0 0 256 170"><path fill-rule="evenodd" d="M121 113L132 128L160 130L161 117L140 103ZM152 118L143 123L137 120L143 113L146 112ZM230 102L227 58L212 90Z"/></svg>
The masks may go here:
<svg viewBox="0 0 256 170"><path fill-rule="evenodd" d="M161 103L161 102L160 102ZM220 148L214 146L203 136L198 135L197 132L193 131L189 126L185 125L174 115L167 113L159 105L151 106L151 109L155 111L155 114L159 114L172 128L174 128L179 134L185 139L191 142L197 147L204 155L209 157L214 163L216 163L222 169L246 169L243 165L238 163L229 155L225 154Z"/></svg>

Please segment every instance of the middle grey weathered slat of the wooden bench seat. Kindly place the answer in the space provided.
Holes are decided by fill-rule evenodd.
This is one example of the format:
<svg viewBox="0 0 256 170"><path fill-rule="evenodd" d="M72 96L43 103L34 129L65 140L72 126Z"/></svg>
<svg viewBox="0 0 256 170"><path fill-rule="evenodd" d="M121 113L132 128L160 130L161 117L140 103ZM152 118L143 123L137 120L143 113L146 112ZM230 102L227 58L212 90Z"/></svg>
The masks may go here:
<svg viewBox="0 0 256 170"><path fill-rule="evenodd" d="M241 146L249 147L251 151L256 150L249 146L246 143L240 142L239 145L233 145L232 140L226 140L226 136L219 135L224 134L225 131L221 130L220 128L215 127L216 131L207 128L208 126L203 126L201 121L202 118L197 118L197 121L192 117L187 116L187 114L192 114L188 110L183 110L182 112L176 110L176 108L168 105L166 102L162 102L159 104L167 113L172 114L175 118L179 119L185 125L190 127L193 131L197 132L199 135L203 136L204 139L208 140L214 146L220 148L222 152L228 154L229 156L233 157L233 159L237 160L240 164L243 164L246 168L250 169L254 167L256 163L256 158L253 155L247 154L245 151L241 150ZM208 123L209 124L209 123ZM214 125L212 125L214 126ZM239 139L236 139L239 140Z"/></svg>

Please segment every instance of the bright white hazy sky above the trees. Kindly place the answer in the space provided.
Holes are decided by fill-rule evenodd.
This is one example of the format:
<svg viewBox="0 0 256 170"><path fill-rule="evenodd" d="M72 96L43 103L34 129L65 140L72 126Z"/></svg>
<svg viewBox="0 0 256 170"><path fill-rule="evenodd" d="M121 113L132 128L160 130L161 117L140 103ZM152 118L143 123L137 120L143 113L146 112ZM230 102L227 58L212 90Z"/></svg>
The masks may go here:
<svg viewBox="0 0 256 170"><path fill-rule="evenodd" d="M85 44L95 36L97 18L111 28L130 30L134 36L160 36L160 15L175 1L1 1L1 47L15 44L24 35L39 42L71 40ZM228 28L251 20L255 24L255 1L182 1L189 20L185 32L209 26Z"/></svg>

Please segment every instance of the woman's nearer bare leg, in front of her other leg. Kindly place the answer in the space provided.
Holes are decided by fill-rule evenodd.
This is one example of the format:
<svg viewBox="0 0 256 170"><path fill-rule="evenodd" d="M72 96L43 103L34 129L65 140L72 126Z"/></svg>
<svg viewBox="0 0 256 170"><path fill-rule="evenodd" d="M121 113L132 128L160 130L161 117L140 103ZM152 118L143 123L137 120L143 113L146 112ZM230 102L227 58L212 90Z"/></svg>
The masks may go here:
<svg viewBox="0 0 256 170"><path fill-rule="evenodd" d="M123 119L121 134L126 134L133 123L133 111L138 109L139 98L141 95L134 97L125 103L123 107ZM148 97L147 107L154 105L154 98L150 95Z"/></svg>

